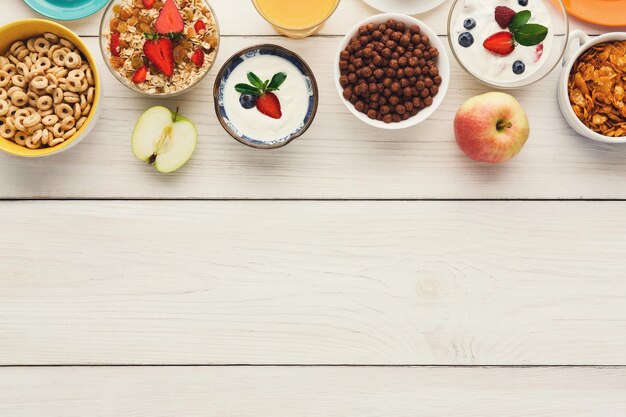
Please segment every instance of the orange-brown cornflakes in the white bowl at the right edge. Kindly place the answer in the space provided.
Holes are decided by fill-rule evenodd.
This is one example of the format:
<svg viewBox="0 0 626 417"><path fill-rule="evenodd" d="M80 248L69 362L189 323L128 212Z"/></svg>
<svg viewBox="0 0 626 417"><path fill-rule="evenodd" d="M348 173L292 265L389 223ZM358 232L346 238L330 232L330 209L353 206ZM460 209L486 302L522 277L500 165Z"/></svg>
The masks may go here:
<svg viewBox="0 0 626 417"><path fill-rule="evenodd" d="M626 136L626 41L601 43L582 54L568 91L585 126L604 136Z"/></svg>

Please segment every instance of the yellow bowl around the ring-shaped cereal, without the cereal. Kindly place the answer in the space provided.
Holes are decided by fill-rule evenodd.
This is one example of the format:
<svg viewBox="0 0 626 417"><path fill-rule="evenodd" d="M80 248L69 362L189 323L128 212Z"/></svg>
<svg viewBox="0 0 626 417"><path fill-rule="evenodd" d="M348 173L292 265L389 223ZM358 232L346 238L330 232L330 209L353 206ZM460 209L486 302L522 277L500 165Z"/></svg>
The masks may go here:
<svg viewBox="0 0 626 417"><path fill-rule="evenodd" d="M100 73L98 71L98 67L96 66L96 61L93 59L91 52L89 52L87 45L85 45L85 43L78 37L78 35L76 35L65 26L43 19L20 20L4 25L0 27L0 54L5 54L11 44L15 41L28 39L33 36L41 35L45 32L51 32L55 35L67 39L83 53L83 56L87 58L87 60L89 61L89 65L91 65L91 70L93 72L94 81L96 84L96 93L94 96L93 104L91 106L91 112L89 113L89 116L87 116L87 121L85 122L85 124L83 124L83 126L78 129L74 136L72 136L60 145L52 148L28 149L10 140L0 137L0 149L17 156L42 157L68 150L69 148L80 142L82 139L84 139L85 136L87 136L91 128L95 125L100 111L101 84Z"/></svg>

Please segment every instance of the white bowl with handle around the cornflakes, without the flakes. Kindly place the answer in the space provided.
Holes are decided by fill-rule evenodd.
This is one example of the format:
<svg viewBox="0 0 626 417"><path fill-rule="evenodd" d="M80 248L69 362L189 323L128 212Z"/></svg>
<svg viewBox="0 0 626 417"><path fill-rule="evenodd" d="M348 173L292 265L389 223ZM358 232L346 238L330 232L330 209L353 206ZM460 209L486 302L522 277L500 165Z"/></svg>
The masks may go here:
<svg viewBox="0 0 626 417"><path fill-rule="evenodd" d="M574 110L572 109L572 105L569 100L568 91L568 80L570 73L572 72L572 67L574 66L576 60L578 60L578 58L592 46L604 42L624 40L626 40L626 32L606 33L595 38L590 38L580 30L575 30L570 34L570 41L567 45L566 50L566 58L563 63L563 71L557 84L557 97L559 101L559 107L561 108L561 113L563 113L563 116L565 117L565 120L567 120L567 123L569 123L572 129L574 129L577 133L588 139L604 143L626 143L626 136L613 138L594 132L593 130L585 126L584 123L581 122L580 119L576 116L576 113L574 113Z"/></svg>

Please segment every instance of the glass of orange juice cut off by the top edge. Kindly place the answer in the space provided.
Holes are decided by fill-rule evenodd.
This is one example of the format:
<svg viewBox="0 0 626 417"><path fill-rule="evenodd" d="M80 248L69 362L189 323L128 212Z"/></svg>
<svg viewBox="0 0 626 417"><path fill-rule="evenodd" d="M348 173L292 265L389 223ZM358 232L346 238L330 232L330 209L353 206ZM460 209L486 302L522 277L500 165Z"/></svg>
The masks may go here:
<svg viewBox="0 0 626 417"><path fill-rule="evenodd" d="M335 12L339 0L252 0L254 7L278 33L306 38Z"/></svg>

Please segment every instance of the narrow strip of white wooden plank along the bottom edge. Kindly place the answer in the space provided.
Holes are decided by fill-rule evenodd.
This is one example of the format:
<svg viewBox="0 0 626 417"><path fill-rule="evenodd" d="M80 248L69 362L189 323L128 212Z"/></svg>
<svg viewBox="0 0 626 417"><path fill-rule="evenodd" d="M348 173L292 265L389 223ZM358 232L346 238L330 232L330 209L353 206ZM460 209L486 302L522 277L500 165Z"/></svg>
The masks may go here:
<svg viewBox="0 0 626 417"><path fill-rule="evenodd" d="M626 371L593 368L4 368L11 417L622 417Z"/></svg>

